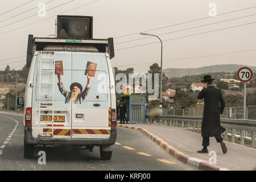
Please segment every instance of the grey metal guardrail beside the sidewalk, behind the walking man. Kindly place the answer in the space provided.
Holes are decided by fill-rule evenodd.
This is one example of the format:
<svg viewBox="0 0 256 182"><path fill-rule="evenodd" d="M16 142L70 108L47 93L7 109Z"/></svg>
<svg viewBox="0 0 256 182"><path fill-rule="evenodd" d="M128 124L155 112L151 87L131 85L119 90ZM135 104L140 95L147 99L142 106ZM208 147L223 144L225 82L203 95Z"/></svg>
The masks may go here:
<svg viewBox="0 0 256 182"><path fill-rule="evenodd" d="M180 127L193 127L193 131L199 131L202 122L201 116L184 116L184 115L160 115L152 117L146 114L146 123L165 125L165 126L180 126ZM256 120L252 119L233 119L221 118L221 126L225 127L224 140L228 140L228 132L231 131L231 141L235 142L237 130L240 130L241 144L245 144L245 138L250 133L251 147L255 147L256 135Z"/></svg>

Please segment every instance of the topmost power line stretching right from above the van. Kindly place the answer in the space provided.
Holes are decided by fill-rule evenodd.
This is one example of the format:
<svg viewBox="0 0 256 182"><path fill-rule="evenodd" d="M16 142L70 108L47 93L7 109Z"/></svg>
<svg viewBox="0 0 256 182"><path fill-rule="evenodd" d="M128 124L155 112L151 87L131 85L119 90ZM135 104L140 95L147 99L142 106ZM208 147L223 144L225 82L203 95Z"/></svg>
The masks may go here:
<svg viewBox="0 0 256 182"><path fill-rule="evenodd" d="M221 16L221 15L225 15L225 14L230 14L230 13L235 13L235 12L243 11L243 10L249 10L249 9L253 9L253 8L255 8L255 7L256 7L256 6L252 6L252 7L246 7L245 9L229 11L229 12L226 12L226 13L218 14L217 16ZM177 26L177 25L180 25L180 24L196 22L196 21L198 21L198 20L203 20L203 19L208 19L208 18L213 18L213 16L207 16L207 17L205 17L205 18L199 18L199 19L188 20L187 22L181 22L181 23L177 23L177 24L171 24L171 25L168 25L168 26L160 27L160 28L153 28L153 29L150 29L150 30L145 30L145 31L136 32L136 33L133 33L133 34L122 35L122 36L118 36L118 37L116 37L116 38L114 38L114 39L119 39L119 38L123 38L123 37L125 37L125 36L130 36L130 35L136 35L136 34L139 34L139 33L141 33L141 32L149 32L149 31L153 31L153 30L159 30L159 29L162 29L162 28L168 28L168 27Z"/></svg>

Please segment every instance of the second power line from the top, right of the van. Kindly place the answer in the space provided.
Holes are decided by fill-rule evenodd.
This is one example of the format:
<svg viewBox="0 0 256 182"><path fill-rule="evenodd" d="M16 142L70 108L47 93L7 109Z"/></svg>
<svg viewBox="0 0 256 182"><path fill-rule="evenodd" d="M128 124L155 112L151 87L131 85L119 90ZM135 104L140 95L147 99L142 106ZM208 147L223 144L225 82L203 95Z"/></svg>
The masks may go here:
<svg viewBox="0 0 256 182"><path fill-rule="evenodd" d="M217 24L217 23L229 22L229 21L232 21L232 20L241 19L241 18L247 18L247 17L249 17L249 16L255 16L255 15L256 15L256 14L251 14L251 15L241 16L241 17L238 17L238 18L232 18L232 19L228 19L228 20L222 20L222 21L220 21L220 22L214 22L214 23L203 24L203 25L201 25L201 26L196 26L196 27L191 27L191 28L184 28L184 29L177 30L177 31L167 32L167 33L163 33L163 34L158 34L157 36L172 34L172 33L175 33L175 32L180 32L180 31L185 31L185 30L191 30L191 29L193 29L193 28L199 28L199 27L209 26L209 25ZM133 39L133 40L127 40L127 41L119 42L119 43L115 43L115 44L123 44L123 43L127 43L127 42L134 42L134 41L136 41L136 40L142 40L142 39L148 39L148 38L152 38L152 37L151 37L151 36L146 36L146 37L144 37L144 38Z"/></svg>

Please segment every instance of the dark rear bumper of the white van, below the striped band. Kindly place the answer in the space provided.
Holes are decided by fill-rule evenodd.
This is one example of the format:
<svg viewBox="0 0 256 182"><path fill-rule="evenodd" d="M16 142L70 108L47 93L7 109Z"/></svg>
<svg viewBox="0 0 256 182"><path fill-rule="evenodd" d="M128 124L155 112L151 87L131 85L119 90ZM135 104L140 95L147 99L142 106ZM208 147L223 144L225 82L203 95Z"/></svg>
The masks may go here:
<svg viewBox="0 0 256 182"><path fill-rule="evenodd" d="M32 137L31 127L24 127L24 138L27 144L49 144L53 146L109 146L117 139L117 129L110 130L109 138L34 138Z"/></svg>

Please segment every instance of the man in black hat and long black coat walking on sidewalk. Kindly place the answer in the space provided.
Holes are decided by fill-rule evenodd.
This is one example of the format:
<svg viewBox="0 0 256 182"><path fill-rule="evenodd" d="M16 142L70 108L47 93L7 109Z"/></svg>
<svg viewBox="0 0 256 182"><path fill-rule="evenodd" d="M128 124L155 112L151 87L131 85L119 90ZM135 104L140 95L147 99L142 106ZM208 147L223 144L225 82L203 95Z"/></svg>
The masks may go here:
<svg viewBox="0 0 256 182"><path fill-rule="evenodd" d="M222 152L225 154L227 148L225 143L222 142L221 134L226 129L220 125L220 114L223 113L225 101L221 90L212 85L213 80L210 75L205 75L204 80L201 80L201 82L205 82L206 85L197 96L198 99L204 98L204 114L201 126L203 137L202 146L204 148L197 152L208 153L209 137L215 137L216 141L221 144Z"/></svg>

